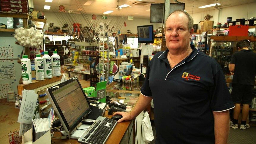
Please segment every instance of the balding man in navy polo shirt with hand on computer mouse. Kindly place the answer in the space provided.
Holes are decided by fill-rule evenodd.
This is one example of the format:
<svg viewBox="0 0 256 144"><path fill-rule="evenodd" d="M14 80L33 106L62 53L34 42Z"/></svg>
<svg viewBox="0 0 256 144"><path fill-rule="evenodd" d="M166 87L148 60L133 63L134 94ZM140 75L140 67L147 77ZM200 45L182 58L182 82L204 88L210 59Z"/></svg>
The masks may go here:
<svg viewBox="0 0 256 144"><path fill-rule="evenodd" d="M190 45L193 19L182 10L165 22L167 50L155 54L141 94L124 120L135 118L154 99L155 143L224 144L234 107L219 64Z"/></svg>

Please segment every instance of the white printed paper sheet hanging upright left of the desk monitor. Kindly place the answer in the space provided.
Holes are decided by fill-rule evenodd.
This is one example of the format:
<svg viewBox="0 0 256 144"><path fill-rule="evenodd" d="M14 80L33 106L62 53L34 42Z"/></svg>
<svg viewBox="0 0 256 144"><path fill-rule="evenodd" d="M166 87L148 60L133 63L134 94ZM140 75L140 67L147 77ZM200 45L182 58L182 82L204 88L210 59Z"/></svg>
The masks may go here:
<svg viewBox="0 0 256 144"><path fill-rule="evenodd" d="M24 93L22 95L18 123L32 124L32 119L37 103L37 97L38 94L35 94L32 91L24 90Z"/></svg>

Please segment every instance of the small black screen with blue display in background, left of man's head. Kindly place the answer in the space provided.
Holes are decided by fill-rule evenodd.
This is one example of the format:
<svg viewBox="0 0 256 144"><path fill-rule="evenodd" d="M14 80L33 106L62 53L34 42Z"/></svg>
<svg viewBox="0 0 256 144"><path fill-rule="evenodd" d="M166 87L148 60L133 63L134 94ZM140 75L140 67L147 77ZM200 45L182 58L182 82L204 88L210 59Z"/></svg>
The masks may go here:
<svg viewBox="0 0 256 144"><path fill-rule="evenodd" d="M138 26L137 29L139 43L154 43L153 25Z"/></svg>

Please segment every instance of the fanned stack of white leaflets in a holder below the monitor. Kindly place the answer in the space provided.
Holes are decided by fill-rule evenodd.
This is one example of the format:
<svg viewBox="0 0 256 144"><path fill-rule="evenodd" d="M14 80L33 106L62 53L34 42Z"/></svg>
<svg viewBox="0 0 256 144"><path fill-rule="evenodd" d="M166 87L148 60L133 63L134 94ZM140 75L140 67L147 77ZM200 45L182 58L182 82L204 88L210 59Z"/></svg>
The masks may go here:
<svg viewBox="0 0 256 144"><path fill-rule="evenodd" d="M53 119L53 107L51 107L51 111L48 118L32 119L33 131L35 132L35 134L33 134L33 142L42 137L45 133L47 133L50 130L50 127L53 123Z"/></svg>

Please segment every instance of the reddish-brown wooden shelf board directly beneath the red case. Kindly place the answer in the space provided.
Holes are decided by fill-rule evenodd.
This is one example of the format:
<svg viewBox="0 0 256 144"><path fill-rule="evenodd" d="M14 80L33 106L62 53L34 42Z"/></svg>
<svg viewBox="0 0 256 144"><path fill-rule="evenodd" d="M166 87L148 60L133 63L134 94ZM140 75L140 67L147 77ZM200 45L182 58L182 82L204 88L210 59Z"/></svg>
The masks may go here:
<svg viewBox="0 0 256 144"><path fill-rule="evenodd" d="M256 42L256 37L249 37L249 36L211 36L211 39L214 41L230 41L230 42L235 42L235 41L241 41L244 39L248 39L251 42Z"/></svg>

